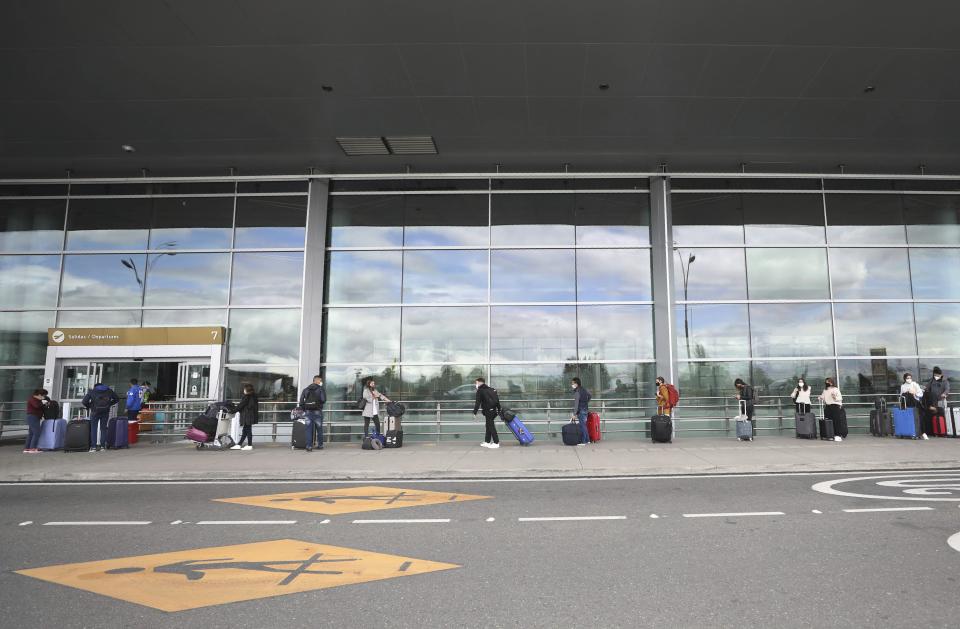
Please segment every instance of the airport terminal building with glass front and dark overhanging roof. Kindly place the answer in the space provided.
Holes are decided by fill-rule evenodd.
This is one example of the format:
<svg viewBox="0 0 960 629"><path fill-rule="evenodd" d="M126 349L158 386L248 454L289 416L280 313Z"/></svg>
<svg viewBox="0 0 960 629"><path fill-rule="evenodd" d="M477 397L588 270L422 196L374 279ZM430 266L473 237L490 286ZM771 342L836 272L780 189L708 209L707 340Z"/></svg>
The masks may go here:
<svg viewBox="0 0 960 629"><path fill-rule="evenodd" d="M952 20L633 4L19 7L0 403L960 374Z"/></svg>

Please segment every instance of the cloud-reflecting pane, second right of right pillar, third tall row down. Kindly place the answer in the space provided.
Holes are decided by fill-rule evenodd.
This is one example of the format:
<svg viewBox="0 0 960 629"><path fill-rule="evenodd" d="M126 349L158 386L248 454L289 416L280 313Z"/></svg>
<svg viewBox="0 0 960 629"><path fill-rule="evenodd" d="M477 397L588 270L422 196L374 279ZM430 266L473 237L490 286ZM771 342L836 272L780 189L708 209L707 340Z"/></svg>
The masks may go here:
<svg viewBox="0 0 960 629"><path fill-rule="evenodd" d="M753 356L832 356L830 304L751 304Z"/></svg>

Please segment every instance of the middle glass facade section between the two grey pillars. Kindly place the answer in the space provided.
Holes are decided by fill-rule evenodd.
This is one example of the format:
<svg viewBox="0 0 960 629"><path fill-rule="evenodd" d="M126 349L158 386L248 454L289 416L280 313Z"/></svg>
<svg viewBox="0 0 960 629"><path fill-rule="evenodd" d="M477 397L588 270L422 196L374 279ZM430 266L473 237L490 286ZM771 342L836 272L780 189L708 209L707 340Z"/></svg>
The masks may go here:
<svg viewBox="0 0 960 629"><path fill-rule="evenodd" d="M323 343L334 395L370 375L407 399L472 400L480 375L505 400L564 396L574 376L622 394L653 372L647 191L513 183L334 185Z"/></svg>

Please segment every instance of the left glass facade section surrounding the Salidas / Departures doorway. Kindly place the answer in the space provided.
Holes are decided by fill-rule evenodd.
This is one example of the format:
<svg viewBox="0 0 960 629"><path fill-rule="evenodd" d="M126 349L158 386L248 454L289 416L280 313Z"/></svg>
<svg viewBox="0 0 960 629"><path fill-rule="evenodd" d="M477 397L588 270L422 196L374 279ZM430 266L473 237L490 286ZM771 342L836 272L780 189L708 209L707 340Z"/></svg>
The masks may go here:
<svg viewBox="0 0 960 629"><path fill-rule="evenodd" d="M307 184L252 183L0 184L0 403L40 386L56 326L226 326L225 394L292 399Z"/></svg>

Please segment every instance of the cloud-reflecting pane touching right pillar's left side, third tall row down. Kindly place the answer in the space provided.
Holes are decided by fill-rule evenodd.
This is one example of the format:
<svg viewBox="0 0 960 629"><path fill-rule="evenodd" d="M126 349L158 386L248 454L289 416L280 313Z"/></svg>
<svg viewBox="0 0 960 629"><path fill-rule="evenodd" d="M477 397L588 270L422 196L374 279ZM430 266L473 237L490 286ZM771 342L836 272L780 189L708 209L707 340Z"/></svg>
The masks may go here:
<svg viewBox="0 0 960 629"><path fill-rule="evenodd" d="M580 360L653 358L653 306L578 306Z"/></svg>

